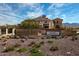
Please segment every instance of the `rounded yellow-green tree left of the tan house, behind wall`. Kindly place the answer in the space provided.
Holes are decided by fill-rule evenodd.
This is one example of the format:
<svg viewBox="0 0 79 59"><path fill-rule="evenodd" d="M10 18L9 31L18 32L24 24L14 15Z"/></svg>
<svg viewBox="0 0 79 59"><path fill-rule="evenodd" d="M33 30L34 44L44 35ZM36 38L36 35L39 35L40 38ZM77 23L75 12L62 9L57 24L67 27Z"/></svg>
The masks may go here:
<svg viewBox="0 0 79 59"><path fill-rule="evenodd" d="M37 29L39 24L34 19L26 19L21 22L21 27L25 29Z"/></svg>

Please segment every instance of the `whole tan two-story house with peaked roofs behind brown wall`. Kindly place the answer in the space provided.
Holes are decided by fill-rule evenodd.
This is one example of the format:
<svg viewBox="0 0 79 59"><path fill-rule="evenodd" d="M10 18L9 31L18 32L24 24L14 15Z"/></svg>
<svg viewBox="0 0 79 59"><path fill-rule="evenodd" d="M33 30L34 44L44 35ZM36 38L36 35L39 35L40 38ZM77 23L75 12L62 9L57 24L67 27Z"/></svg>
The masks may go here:
<svg viewBox="0 0 79 59"><path fill-rule="evenodd" d="M50 20L45 15L37 17L35 20L44 29L52 29L53 27L60 28L62 27L62 21L63 21L63 19L60 19L60 18Z"/></svg>

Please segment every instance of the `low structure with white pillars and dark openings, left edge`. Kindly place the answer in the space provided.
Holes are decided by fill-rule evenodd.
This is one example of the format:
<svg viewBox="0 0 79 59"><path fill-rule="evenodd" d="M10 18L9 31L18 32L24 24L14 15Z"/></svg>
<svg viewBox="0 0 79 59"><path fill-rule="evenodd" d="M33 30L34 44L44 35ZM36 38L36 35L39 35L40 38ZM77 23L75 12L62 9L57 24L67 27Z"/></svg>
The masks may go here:
<svg viewBox="0 0 79 59"><path fill-rule="evenodd" d="M15 35L15 26L0 26L0 38Z"/></svg>

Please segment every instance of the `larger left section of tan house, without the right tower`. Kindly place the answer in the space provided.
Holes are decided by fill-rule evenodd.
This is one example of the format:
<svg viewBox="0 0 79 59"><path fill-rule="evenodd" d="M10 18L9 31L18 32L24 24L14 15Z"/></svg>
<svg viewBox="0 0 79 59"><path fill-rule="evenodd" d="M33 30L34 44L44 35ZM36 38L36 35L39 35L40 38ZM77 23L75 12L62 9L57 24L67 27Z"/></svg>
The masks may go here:
<svg viewBox="0 0 79 59"><path fill-rule="evenodd" d="M35 20L43 29L52 29L52 27L54 27L53 21L48 19L45 15L35 18Z"/></svg>

